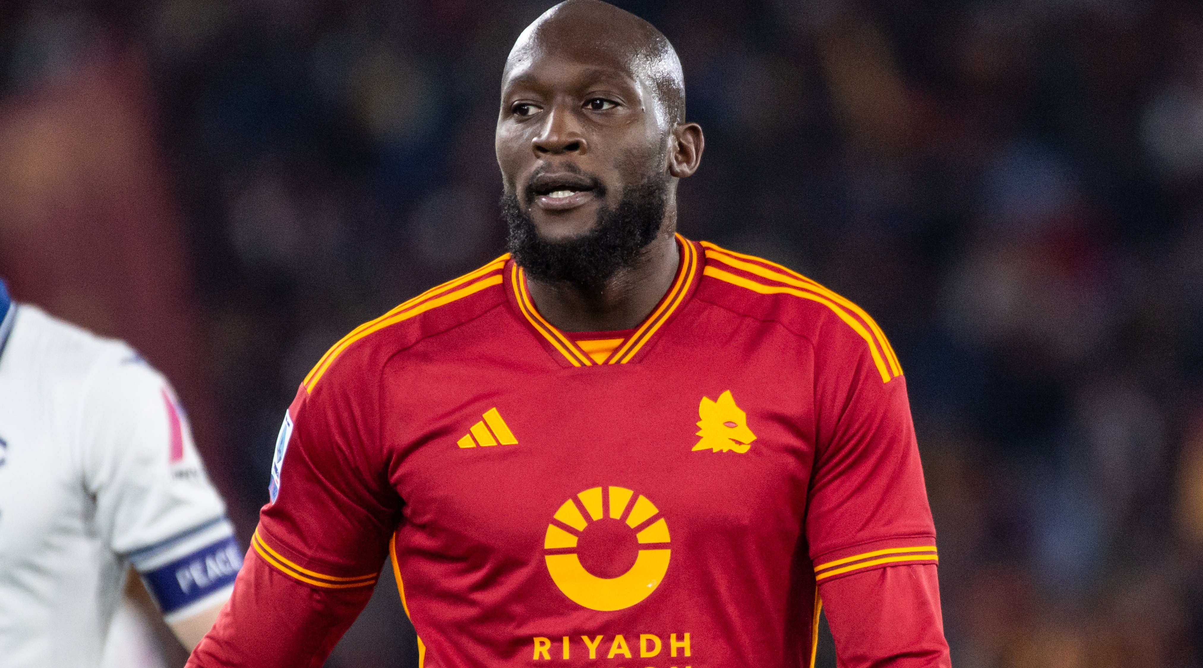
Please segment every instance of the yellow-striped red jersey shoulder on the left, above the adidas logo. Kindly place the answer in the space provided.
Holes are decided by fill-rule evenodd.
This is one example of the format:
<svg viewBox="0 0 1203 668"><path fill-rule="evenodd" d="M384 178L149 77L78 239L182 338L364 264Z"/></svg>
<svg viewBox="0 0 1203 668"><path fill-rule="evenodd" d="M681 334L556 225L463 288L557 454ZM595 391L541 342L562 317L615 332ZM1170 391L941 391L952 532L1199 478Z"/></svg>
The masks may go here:
<svg viewBox="0 0 1203 668"><path fill-rule="evenodd" d="M302 389L313 393L319 383L333 378L363 378L365 374L374 377L397 352L504 304L504 269L509 257L503 255L356 327L318 360L302 381Z"/></svg>

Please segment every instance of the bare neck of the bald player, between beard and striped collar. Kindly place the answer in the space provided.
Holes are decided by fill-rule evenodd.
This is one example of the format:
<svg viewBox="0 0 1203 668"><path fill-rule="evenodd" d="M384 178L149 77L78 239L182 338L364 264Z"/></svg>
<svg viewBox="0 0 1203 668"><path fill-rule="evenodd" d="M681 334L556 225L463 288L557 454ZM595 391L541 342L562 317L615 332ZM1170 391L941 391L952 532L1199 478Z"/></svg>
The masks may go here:
<svg viewBox="0 0 1203 668"><path fill-rule="evenodd" d="M543 282L527 279L535 308L564 332L612 332L639 326L672 286L681 255L675 226L660 228L628 267L600 286Z"/></svg>

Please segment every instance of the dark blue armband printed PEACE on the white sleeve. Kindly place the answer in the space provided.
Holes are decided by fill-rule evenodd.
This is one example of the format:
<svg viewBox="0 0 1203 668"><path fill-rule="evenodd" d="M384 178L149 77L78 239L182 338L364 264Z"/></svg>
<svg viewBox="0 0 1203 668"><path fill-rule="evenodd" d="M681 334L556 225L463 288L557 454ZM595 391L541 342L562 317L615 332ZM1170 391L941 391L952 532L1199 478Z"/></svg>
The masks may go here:
<svg viewBox="0 0 1203 668"><path fill-rule="evenodd" d="M164 614L172 613L233 584L242 568L242 551L226 536L189 555L142 573Z"/></svg>

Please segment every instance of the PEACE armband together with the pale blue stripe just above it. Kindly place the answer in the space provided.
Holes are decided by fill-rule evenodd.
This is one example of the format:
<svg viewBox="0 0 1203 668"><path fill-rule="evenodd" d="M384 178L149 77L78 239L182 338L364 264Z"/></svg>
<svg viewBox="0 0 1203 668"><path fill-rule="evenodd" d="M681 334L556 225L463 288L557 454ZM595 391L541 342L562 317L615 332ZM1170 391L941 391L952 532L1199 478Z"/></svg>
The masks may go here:
<svg viewBox="0 0 1203 668"><path fill-rule="evenodd" d="M225 518L130 555L134 568L172 622L224 602L242 567L242 550Z"/></svg>

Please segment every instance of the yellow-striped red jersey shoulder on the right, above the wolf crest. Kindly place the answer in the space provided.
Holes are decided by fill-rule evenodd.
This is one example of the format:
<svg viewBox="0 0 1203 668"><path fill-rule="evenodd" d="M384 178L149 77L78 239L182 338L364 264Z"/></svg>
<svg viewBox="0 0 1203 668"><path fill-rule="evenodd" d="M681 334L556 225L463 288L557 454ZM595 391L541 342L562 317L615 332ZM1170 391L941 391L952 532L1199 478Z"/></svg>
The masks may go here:
<svg viewBox="0 0 1203 668"><path fill-rule="evenodd" d="M701 241L698 298L733 314L776 322L807 339L819 356L867 354L889 382L902 366L877 322L835 291L768 260Z"/></svg>

